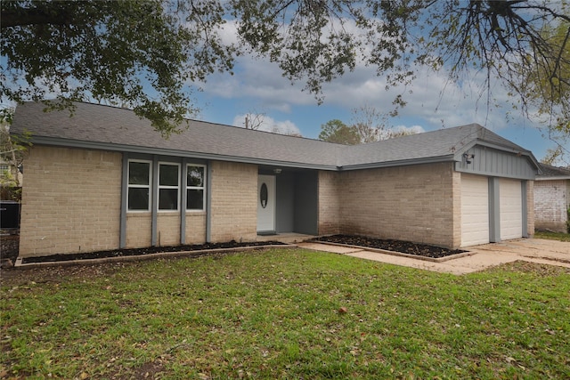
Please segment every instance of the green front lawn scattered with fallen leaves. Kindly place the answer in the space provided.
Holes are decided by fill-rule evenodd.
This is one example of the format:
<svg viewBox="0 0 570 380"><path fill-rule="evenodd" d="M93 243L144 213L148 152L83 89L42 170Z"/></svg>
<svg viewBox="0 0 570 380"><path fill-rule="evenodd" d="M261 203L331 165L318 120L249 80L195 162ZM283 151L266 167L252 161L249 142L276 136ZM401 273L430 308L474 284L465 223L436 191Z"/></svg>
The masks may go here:
<svg viewBox="0 0 570 380"><path fill-rule="evenodd" d="M0 378L570 378L564 268L300 249L105 268L0 283Z"/></svg>

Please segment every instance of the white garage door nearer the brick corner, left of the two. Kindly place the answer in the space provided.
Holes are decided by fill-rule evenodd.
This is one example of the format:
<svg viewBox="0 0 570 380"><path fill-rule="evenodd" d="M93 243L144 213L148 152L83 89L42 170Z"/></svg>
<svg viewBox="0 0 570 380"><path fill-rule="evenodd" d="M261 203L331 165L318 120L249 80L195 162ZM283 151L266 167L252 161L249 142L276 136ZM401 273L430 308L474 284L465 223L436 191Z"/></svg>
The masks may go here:
<svg viewBox="0 0 570 380"><path fill-rule="evenodd" d="M489 180L461 174L461 247L489 242Z"/></svg>

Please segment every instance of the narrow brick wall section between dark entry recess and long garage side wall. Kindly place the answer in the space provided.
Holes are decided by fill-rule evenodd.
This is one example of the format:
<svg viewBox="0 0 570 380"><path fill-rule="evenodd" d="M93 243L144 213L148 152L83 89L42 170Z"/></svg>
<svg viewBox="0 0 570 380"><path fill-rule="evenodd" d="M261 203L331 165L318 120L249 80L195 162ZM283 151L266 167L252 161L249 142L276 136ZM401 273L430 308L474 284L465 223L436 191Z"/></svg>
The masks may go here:
<svg viewBox="0 0 570 380"><path fill-rule="evenodd" d="M319 235L340 233L340 174L319 172Z"/></svg>

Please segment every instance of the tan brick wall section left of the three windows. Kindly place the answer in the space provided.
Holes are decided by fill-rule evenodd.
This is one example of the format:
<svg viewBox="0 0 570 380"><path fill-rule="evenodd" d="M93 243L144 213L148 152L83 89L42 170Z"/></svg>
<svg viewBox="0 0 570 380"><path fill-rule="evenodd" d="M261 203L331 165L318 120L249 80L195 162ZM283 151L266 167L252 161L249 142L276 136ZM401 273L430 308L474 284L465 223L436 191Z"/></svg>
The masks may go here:
<svg viewBox="0 0 570 380"><path fill-rule="evenodd" d="M34 146L24 162L20 257L118 247L121 154Z"/></svg>

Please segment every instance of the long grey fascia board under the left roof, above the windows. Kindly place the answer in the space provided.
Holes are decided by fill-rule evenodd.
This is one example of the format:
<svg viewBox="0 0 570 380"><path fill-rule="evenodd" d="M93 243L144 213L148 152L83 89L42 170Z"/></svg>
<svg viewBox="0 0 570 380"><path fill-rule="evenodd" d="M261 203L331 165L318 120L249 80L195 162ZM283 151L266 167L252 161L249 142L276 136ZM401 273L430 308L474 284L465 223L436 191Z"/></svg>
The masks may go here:
<svg viewBox="0 0 570 380"><path fill-rule="evenodd" d="M188 150L166 150L166 149L151 148L151 147L136 147L125 144L112 144L107 142L96 142L96 141L78 141L78 140L68 140L68 139L60 139L53 137L44 137L44 136L34 136L32 138L32 143L34 145L51 145L63 148L109 150L117 152L151 154L159 156L211 159L218 161L239 162L242 164L282 166L282 167L294 167L299 169L315 169L315 170L327 170L327 171L338 170L338 166L305 164L305 163L298 163L292 161L268 160L264 158L247 158L247 157L238 157L238 156L218 155L213 153L193 152Z"/></svg>

